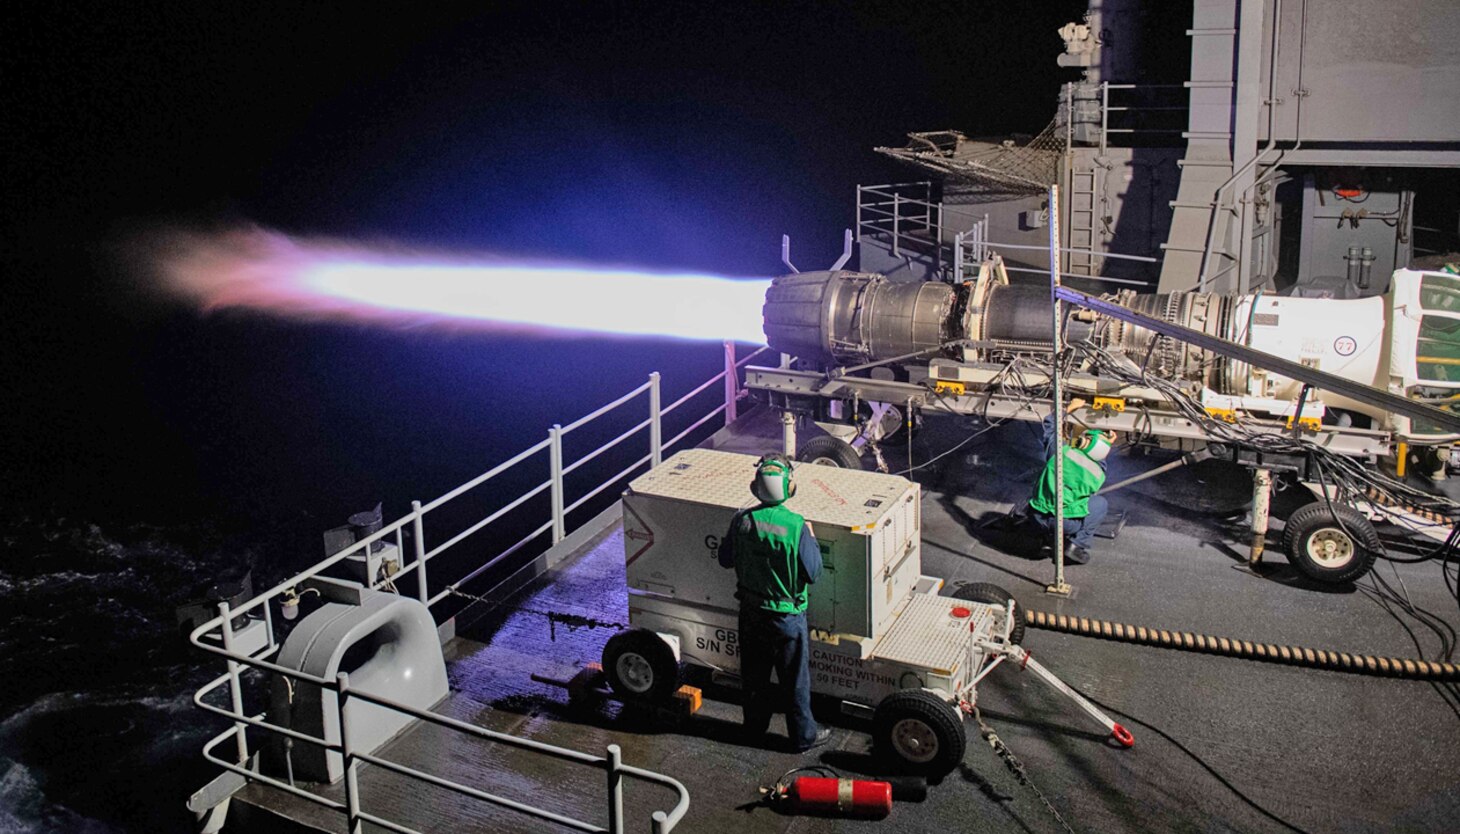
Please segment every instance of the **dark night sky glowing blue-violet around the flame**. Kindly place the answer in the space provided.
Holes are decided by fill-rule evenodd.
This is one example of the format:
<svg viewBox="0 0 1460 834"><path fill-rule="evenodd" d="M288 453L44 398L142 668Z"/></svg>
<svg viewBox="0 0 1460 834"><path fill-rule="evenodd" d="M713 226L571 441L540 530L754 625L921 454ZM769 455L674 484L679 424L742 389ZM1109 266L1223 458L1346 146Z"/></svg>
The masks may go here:
<svg viewBox="0 0 1460 834"><path fill-rule="evenodd" d="M857 183L918 178L872 146L1040 130L1082 9L9 4L4 495L165 519L384 467L342 498L366 501L447 454L419 482L439 492L666 351L680 387L718 355L204 318L126 280L118 235L256 222L769 276L788 232L825 264Z"/></svg>

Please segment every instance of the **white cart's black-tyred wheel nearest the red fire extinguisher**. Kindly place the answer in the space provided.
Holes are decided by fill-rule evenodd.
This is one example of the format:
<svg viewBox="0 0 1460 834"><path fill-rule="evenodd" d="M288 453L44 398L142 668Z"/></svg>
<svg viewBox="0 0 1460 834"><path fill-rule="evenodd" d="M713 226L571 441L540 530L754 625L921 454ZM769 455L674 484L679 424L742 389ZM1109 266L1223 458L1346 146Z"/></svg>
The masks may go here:
<svg viewBox="0 0 1460 834"><path fill-rule="evenodd" d="M877 755L929 777L948 776L968 745L958 711L927 689L883 698L872 716L872 739Z"/></svg>

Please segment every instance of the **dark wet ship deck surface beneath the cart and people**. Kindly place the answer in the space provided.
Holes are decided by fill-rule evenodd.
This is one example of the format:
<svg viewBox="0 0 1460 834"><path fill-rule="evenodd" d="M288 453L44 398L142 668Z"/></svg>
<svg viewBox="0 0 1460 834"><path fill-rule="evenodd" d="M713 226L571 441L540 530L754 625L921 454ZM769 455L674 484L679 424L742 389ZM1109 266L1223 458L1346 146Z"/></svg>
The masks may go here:
<svg viewBox="0 0 1460 834"><path fill-rule="evenodd" d="M742 425L743 424L743 425ZM774 447L778 425L743 419L736 451ZM967 437L952 421L929 425L915 441L914 463ZM1142 492L1111 497L1129 521L1118 539L1099 540L1094 562L1073 567L1073 599L1042 587L1053 565L1021 552L1023 542L990 533L981 521L1022 501L1040 466L1037 438L1023 424L994 429L917 473L924 485L923 573L949 587L993 581L1026 608L1226 637L1416 656L1405 627L1361 589L1321 590L1295 578L1276 551L1272 570L1242 570L1247 533L1241 504L1248 485L1241 472L1207 469L1172 473ZM888 463L905 467L905 450ZM1111 479L1150 463L1115 459ZM1200 481L1206 479L1206 483ZM1279 524L1275 523L1275 527ZM626 618L622 532L613 527L521 594L539 611ZM1403 580L1412 602L1451 624L1456 602L1432 564L1397 565L1384 575ZM1367 586L1369 580L1361 583ZM1413 628L1413 624L1410 624ZM448 646L453 695L439 710L479 726L602 755L609 743L623 761L682 780L691 811L680 831L737 834L771 831L1060 831L1035 795L1021 786L981 743L969 724L964 767L930 787L923 803L899 803L886 821L854 822L784 816L752 808L756 787L807 764L845 774L876 774L867 726L842 717L835 704L816 704L835 727L819 755L791 755L748 746L739 738L736 694L707 688L704 710L679 724L637 708L602 704L569 707L566 694L529 679L531 673L571 675L597 660L607 630L566 632L549 640L548 622L512 612L477 622ZM1416 634L1421 634L1416 630ZM1421 634L1426 656L1435 640ZM980 685L984 717L1023 760L1029 777L1075 831L1444 831L1460 818L1460 719L1434 686L1315 672L1247 660L1133 647L1029 630L1025 646L1051 670L1089 697L1120 710L1136 735L1120 749L1064 697L1013 669L999 669ZM772 730L784 727L777 719ZM542 803L590 822L604 822L602 773L564 765L499 745L464 741L434 727L416 727L391 742L383 757L434 761L453 776L508 797ZM1223 780L1250 797L1241 799ZM426 831L543 831L552 827L400 777L364 768L365 809ZM337 792L337 789L336 789ZM250 787L248 802L273 803ZM648 828L653 809L672 795L629 784L629 830ZM1256 806L1266 809L1259 811ZM1270 814L1270 815L1269 815ZM343 830L339 815L314 815Z"/></svg>

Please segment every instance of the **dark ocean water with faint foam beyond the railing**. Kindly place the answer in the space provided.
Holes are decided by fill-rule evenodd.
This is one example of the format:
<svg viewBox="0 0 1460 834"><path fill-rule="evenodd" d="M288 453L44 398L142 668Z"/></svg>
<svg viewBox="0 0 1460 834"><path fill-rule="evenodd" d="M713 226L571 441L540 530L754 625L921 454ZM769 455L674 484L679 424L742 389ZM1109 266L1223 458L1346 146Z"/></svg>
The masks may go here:
<svg viewBox="0 0 1460 834"><path fill-rule="evenodd" d="M199 529L20 516L0 533L0 831L184 831L203 678L171 605L247 554Z"/></svg>

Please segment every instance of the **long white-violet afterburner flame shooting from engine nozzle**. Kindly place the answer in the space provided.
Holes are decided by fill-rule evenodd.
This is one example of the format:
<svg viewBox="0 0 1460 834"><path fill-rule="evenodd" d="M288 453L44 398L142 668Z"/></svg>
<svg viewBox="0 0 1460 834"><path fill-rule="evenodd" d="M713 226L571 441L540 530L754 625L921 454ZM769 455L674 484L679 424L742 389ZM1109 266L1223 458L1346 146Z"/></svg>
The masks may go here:
<svg viewBox="0 0 1460 834"><path fill-rule="evenodd" d="M264 229L169 232L147 248L164 283L204 310L765 343L768 279L419 253Z"/></svg>

